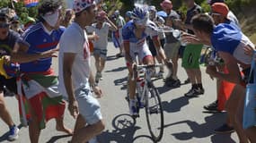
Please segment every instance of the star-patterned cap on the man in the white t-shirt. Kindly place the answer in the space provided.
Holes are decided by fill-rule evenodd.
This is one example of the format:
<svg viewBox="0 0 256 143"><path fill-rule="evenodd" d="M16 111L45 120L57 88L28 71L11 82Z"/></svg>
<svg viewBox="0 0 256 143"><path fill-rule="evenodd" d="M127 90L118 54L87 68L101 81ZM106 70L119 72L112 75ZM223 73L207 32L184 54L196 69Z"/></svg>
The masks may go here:
<svg viewBox="0 0 256 143"><path fill-rule="evenodd" d="M75 13L80 13L84 11L87 7L95 5L94 0L75 0L73 4L73 10Z"/></svg>

